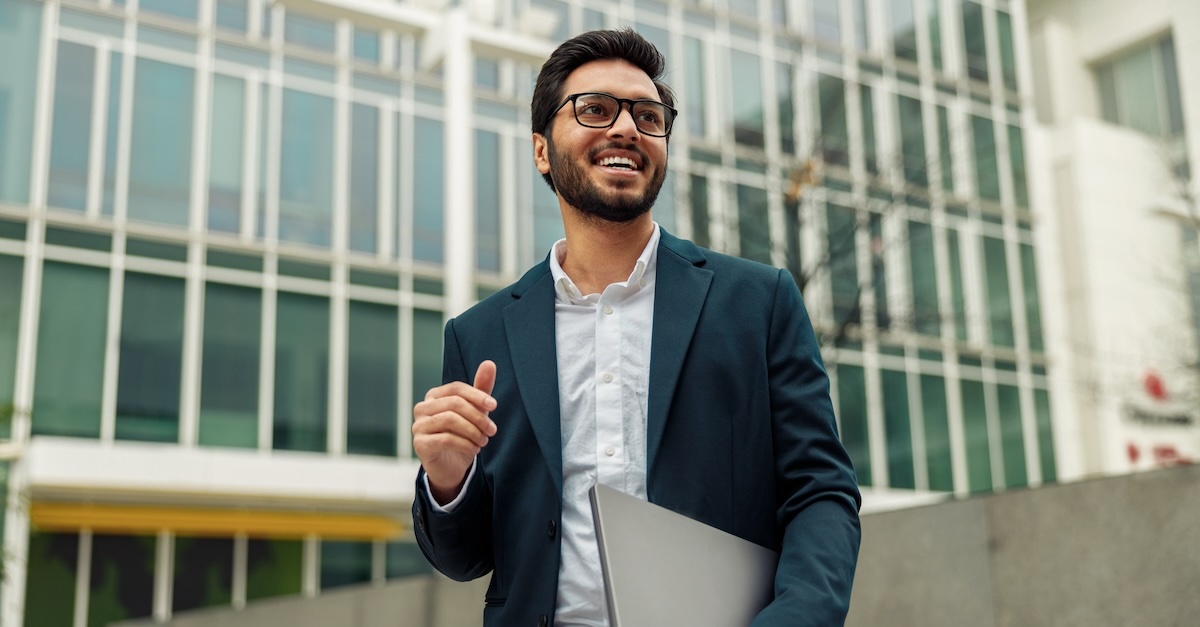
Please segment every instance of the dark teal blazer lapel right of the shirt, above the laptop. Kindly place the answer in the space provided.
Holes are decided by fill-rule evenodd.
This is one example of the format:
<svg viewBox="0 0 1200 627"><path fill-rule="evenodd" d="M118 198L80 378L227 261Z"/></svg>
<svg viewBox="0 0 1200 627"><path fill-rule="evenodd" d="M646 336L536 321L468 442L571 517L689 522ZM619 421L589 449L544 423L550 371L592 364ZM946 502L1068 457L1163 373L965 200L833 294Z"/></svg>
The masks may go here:
<svg viewBox="0 0 1200 627"><path fill-rule="evenodd" d="M713 281L712 270L702 268L703 263L704 255L696 245L662 231L654 279L650 390L646 424L647 478L654 470L671 399L679 383L679 371Z"/></svg>

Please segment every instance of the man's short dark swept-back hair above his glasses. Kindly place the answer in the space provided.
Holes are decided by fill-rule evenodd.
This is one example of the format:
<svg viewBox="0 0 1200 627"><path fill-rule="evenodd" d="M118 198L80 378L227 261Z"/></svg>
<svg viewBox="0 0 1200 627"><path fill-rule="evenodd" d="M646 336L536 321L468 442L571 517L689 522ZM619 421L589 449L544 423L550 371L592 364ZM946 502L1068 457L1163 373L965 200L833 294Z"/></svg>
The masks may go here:
<svg viewBox="0 0 1200 627"><path fill-rule="evenodd" d="M659 100L667 106L674 106L674 91L661 80L666 71L666 60L653 43L638 35L634 29L592 30L564 41L546 59L538 73L533 88L533 101L529 103L529 118L533 132L545 133L550 138L547 120L554 113L554 107L563 103L563 83L577 67L602 59L620 59L646 72L659 90ZM550 189L554 181L550 174L542 174Z"/></svg>

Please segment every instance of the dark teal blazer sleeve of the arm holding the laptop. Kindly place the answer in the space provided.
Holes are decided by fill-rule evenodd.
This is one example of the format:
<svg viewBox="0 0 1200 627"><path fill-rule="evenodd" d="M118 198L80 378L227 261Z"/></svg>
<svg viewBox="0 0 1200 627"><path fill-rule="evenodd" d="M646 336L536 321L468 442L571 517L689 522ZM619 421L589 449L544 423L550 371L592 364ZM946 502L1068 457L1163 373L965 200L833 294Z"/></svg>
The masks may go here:
<svg viewBox="0 0 1200 627"><path fill-rule="evenodd" d="M781 555L775 596L754 626L842 625L858 562L862 496L838 437L829 377L800 292L776 276L768 384Z"/></svg>

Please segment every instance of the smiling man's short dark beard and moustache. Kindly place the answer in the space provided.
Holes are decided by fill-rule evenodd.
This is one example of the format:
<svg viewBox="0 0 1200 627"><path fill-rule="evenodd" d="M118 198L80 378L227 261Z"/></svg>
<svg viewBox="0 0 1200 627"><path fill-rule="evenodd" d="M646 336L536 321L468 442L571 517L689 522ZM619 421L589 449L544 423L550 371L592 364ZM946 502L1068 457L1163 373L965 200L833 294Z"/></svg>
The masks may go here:
<svg viewBox="0 0 1200 627"><path fill-rule="evenodd" d="M649 211L650 207L654 207L654 201L658 199L659 190L662 189L662 181L667 175L666 167L655 168L653 178L647 183L646 191L641 197L619 193L623 191L622 189L635 185L634 181L620 184L622 189L616 191L601 190L588 177L587 169L580 165L578 160L574 160L569 155L556 150L554 141L548 137L546 138L546 144L550 150L551 178L554 181L554 191L568 204L577 209L584 219L616 223L632 222ZM632 150L641 157L643 167L648 163L646 155L636 147L608 144L588 151L588 166L595 160L595 155L610 148ZM662 165L666 166L666 163Z"/></svg>

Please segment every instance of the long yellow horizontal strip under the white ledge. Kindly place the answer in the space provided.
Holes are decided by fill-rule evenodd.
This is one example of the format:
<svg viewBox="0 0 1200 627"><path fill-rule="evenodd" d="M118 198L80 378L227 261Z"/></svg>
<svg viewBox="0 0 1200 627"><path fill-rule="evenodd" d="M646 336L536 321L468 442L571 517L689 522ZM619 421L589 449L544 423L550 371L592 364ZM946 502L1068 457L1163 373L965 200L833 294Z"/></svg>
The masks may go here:
<svg viewBox="0 0 1200 627"><path fill-rule="evenodd" d="M144 507L97 503L35 502L30 522L41 531L100 533L157 533L228 537L245 533L264 538L302 538L316 535L340 539L389 539L401 535L400 521L370 514Z"/></svg>

